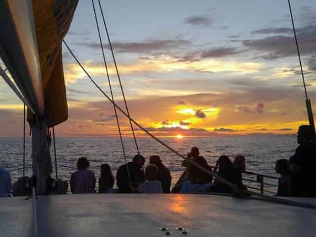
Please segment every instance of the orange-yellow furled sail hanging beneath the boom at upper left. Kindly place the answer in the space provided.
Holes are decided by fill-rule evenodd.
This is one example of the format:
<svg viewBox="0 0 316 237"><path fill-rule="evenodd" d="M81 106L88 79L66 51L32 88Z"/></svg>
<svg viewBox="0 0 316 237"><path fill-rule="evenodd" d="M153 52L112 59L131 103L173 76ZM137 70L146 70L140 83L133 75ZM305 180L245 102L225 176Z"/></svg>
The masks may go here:
<svg viewBox="0 0 316 237"><path fill-rule="evenodd" d="M40 72L48 127L68 118L62 62L62 40L72 22L78 0L33 0L34 22L39 49ZM34 119L28 111L28 120Z"/></svg>

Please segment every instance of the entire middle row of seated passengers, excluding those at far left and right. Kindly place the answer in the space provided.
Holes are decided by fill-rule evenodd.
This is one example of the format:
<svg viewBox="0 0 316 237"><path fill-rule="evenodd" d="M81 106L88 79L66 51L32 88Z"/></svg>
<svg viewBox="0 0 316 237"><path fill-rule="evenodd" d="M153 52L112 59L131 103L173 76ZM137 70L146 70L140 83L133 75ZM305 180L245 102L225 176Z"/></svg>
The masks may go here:
<svg viewBox="0 0 316 237"><path fill-rule="evenodd" d="M190 159L195 163L193 165ZM117 187L114 190L114 176L109 164L102 164L100 167L99 193L145 193L145 194L169 194L171 186L170 171L163 165L158 156L150 157L149 164L143 171L145 158L136 155L132 161L123 164L117 171ZM182 163L187 167L180 182L172 189L173 193L196 193L196 192L221 192L230 193L231 188L222 182L221 178L215 178L210 174L211 166L205 158L199 156L197 147L193 147L191 153ZM71 176L71 192L73 194L94 193L95 176L89 168L89 161L86 158L79 158L77 163L78 171ZM201 169L202 167L202 169ZM210 171L210 172L205 172ZM237 156L232 162L229 157L221 156L214 168L218 169L217 174L228 182L242 187L241 173L245 171L245 158Z"/></svg>

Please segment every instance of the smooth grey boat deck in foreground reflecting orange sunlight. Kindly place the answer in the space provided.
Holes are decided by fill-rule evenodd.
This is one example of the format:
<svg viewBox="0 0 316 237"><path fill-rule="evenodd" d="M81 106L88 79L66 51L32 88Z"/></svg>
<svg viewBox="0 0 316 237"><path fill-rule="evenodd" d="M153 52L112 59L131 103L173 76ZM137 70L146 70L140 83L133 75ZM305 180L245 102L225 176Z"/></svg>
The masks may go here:
<svg viewBox="0 0 316 237"><path fill-rule="evenodd" d="M32 201L0 198L1 237L34 237ZM293 198L316 204L315 199ZM315 237L316 210L208 195L93 194L37 199L40 237Z"/></svg>

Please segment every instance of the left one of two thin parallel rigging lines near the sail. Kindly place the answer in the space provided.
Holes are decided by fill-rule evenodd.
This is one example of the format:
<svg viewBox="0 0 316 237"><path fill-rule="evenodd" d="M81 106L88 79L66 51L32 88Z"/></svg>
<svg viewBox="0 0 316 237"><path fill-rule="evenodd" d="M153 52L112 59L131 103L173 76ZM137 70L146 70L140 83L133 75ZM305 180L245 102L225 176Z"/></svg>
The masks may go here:
<svg viewBox="0 0 316 237"><path fill-rule="evenodd" d="M110 87L110 92L111 92L111 98L112 98L112 101L115 102L115 100L114 100L114 95L113 95L113 90L112 90L112 86L111 86L111 80L110 80L110 76L109 76L109 71L108 71L108 66L107 66L107 62L106 62L106 58L105 58L105 53L104 53L102 38L101 38L101 34L100 34L100 28L99 28L98 18L97 18L97 14L96 14L96 11L95 11L94 0L91 0L91 1L92 1L92 6L93 6L93 12L94 12L94 17L95 17L95 22L96 22L96 26L97 26L97 30L98 30L98 35L99 35L99 40L100 40L100 46L101 46L101 50L102 50L102 56L103 56L104 67L105 67L105 70L106 70L106 73L107 73L108 82L109 82L109 87ZM116 117L117 124L118 124L119 139L120 139L120 143L121 143L121 146L122 146L123 157L124 157L125 164L126 164L126 168L127 168L128 180L131 182L130 173L129 173L129 168L128 168L128 163L127 163L126 154L125 154L125 149L124 149L123 138L122 138L122 134L121 134L120 126L119 126L119 121L118 121L118 112L117 112L117 108L115 107L115 105L113 105L113 107L114 107L115 117ZM135 140L135 142L136 142L136 140Z"/></svg>

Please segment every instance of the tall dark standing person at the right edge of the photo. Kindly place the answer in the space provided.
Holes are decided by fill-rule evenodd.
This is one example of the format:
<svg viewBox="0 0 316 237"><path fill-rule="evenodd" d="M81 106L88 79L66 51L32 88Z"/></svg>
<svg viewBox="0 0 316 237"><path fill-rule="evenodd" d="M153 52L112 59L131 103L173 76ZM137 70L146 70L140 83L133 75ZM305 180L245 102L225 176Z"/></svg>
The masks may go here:
<svg viewBox="0 0 316 237"><path fill-rule="evenodd" d="M290 158L290 171L292 173L292 196L316 197L315 165L316 150L312 143L314 138L313 128L302 125L298 129L298 148Z"/></svg>

